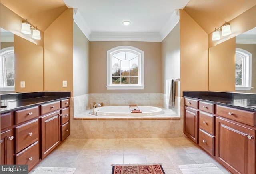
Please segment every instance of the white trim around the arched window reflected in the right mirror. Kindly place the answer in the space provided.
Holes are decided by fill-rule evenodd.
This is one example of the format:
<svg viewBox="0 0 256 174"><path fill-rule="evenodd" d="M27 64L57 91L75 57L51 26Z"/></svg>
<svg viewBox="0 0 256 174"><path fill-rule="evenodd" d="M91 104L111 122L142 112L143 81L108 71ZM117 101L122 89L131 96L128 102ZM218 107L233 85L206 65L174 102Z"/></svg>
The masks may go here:
<svg viewBox="0 0 256 174"><path fill-rule="evenodd" d="M244 79L247 79L245 82L243 81L243 85L236 85L236 90L251 90L252 87L252 53L241 49L236 48L236 54L239 54L244 57L245 67L246 67L246 74Z"/></svg>

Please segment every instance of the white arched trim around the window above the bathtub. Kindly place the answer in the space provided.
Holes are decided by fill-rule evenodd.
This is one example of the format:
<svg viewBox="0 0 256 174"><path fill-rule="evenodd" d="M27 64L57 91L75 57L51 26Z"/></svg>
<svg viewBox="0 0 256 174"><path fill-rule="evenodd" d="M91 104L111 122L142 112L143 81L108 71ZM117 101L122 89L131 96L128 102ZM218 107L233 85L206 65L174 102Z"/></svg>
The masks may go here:
<svg viewBox="0 0 256 174"><path fill-rule="evenodd" d="M112 55L117 52L133 52L139 56L139 84L112 84ZM107 85L108 90L143 90L144 89L144 52L133 46L117 46L107 51Z"/></svg>

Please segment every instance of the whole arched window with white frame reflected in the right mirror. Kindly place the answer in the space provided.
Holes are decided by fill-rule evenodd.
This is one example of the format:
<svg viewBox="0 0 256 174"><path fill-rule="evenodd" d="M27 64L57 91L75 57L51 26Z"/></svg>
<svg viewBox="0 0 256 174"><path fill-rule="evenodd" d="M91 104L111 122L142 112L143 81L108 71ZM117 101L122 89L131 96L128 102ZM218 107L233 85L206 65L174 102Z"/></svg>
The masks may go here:
<svg viewBox="0 0 256 174"><path fill-rule="evenodd" d="M236 48L236 90L251 90L252 54Z"/></svg>

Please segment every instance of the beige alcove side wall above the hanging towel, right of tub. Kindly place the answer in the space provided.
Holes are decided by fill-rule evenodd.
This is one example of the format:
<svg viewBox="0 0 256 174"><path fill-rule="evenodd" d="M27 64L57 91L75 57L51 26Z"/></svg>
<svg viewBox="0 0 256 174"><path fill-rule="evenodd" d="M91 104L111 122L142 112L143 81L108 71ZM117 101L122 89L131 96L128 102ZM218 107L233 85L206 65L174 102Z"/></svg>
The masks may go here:
<svg viewBox="0 0 256 174"><path fill-rule="evenodd" d="M180 78L180 24L177 24L174 29L161 42L162 54L162 93L166 94L166 80ZM175 96L180 96L180 86L175 88Z"/></svg>

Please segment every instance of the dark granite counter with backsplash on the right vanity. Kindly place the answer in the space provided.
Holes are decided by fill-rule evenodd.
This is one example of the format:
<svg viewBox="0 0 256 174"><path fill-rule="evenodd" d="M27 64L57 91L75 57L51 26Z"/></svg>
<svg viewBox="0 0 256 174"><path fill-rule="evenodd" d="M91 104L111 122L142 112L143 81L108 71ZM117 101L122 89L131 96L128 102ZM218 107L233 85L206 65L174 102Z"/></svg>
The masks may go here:
<svg viewBox="0 0 256 174"><path fill-rule="evenodd" d="M256 94L236 92L185 91L184 98L219 104L238 109L256 111Z"/></svg>

